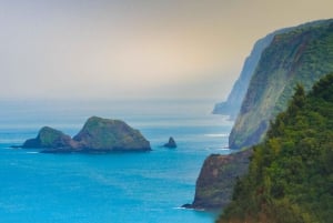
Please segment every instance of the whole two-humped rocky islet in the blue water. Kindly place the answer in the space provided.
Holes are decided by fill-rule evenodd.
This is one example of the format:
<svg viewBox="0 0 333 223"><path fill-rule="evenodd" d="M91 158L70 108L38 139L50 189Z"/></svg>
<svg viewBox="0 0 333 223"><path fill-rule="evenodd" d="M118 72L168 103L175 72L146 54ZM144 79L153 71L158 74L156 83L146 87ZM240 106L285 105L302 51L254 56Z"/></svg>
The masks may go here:
<svg viewBox="0 0 333 223"><path fill-rule="evenodd" d="M42 149L46 153L150 151L150 142L125 122L91 116L73 139L59 130L42 128L23 149Z"/></svg>

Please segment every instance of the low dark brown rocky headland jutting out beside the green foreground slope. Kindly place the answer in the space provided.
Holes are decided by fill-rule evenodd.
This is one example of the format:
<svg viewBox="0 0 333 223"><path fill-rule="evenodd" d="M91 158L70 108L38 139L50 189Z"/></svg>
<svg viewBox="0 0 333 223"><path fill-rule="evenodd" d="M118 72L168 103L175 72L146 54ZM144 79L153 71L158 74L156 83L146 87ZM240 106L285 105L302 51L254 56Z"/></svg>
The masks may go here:
<svg viewBox="0 0 333 223"><path fill-rule="evenodd" d="M196 180L195 196L191 209L221 209L231 201L236 179L244 175L249 168L252 150L229 155L212 154L205 159Z"/></svg>

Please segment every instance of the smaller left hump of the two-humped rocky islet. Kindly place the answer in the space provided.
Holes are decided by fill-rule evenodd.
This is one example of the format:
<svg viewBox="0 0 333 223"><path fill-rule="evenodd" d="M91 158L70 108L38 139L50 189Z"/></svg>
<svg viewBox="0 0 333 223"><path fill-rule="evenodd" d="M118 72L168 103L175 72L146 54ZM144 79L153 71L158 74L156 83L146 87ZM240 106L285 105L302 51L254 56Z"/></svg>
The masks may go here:
<svg viewBox="0 0 333 223"><path fill-rule="evenodd" d="M43 126L36 139L27 140L22 148L26 149L69 149L74 146L71 136L49 126Z"/></svg>

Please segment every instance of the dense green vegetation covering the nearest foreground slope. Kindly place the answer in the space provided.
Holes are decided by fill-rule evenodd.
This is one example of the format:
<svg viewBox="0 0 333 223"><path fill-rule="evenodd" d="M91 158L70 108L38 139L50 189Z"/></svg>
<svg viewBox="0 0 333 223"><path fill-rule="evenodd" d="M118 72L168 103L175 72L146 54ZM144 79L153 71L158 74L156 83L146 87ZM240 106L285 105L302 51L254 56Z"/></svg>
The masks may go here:
<svg viewBox="0 0 333 223"><path fill-rule="evenodd" d="M219 223L324 223L333 216L333 73L305 95L297 85L265 140L253 146Z"/></svg>

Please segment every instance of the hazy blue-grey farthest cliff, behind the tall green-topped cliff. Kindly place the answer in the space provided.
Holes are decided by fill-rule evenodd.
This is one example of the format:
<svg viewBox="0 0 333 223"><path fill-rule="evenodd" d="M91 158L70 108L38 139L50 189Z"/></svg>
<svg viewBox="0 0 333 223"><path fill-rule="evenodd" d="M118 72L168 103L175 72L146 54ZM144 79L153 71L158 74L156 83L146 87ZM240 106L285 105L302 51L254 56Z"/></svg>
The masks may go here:
<svg viewBox="0 0 333 223"><path fill-rule="evenodd" d="M272 42L273 38L276 34L286 32L287 30L289 29L278 30L255 42L250 55L245 59L241 74L234 83L226 101L216 103L213 110L213 114L230 115L231 119L236 118L240 112L243 99L246 94L250 80L260 60L261 53Z"/></svg>

